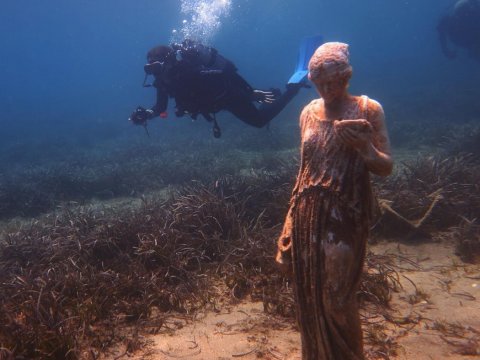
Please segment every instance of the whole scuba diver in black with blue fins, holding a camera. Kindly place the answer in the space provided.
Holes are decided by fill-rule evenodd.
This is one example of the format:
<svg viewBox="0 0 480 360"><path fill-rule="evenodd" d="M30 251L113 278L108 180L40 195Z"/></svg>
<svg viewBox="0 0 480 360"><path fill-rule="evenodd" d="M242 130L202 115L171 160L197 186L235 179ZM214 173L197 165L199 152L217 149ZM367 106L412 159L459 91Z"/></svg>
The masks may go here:
<svg viewBox="0 0 480 360"><path fill-rule="evenodd" d="M304 46L303 56L300 54L303 62L303 58L311 55L305 53L306 49L313 53L320 41L318 36L307 39L314 40L313 43L309 40L310 46ZM302 66L306 67L303 63ZM283 93L278 89L254 89L238 74L230 60L213 47L192 40L154 47L147 53L144 70L143 86L156 89L156 103L151 109L137 107L130 116L130 121L146 126L147 121L156 116L166 118L168 98L171 97L175 99L177 117L189 115L196 119L202 115L213 123L213 135L216 138L221 136L216 121L219 111L229 111L248 125L261 128L283 110L300 88L308 87L305 76L297 76L295 79L292 76ZM149 76L154 78L150 84L147 83Z"/></svg>

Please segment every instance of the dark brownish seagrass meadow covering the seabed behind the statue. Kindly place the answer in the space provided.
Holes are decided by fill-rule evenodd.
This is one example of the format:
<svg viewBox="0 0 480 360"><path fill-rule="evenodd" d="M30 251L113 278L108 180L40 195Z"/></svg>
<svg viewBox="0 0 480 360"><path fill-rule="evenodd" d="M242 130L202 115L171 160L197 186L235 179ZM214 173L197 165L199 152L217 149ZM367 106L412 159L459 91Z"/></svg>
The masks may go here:
<svg viewBox="0 0 480 360"><path fill-rule="evenodd" d="M372 242L442 234L460 261L479 262L480 131L456 134L434 134L407 156L393 129L399 155L394 175L374 179ZM0 359L97 359L119 343L133 353L142 334L168 329L174 317L241 299L293 323L290 280L273 256L298 157L276 140L259 151L264 135L220 143L221 155L210 139L188 138L22 166L3 152ZM358 296L372 358L396 354L388 324L419 321L391 315L399 262L415 266L400 255L367 256Z"/></svg>

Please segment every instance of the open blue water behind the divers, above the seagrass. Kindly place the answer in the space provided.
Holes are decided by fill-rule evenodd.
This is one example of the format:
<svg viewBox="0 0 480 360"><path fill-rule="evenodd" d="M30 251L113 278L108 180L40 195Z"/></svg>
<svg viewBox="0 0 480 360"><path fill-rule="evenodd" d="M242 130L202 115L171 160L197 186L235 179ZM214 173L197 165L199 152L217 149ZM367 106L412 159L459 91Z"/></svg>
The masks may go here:
<svg viewBox="0 0 480 360"><path fill-rule="evenodd" d="M217 10L226 3L196 3L215 1ZM350 44L351 91L379 100L389 123L478 118L480 105L471 100L480 93L480 64L464 53L446 59L437 40L436 24L452 0L230 2L218 23L204 24L205 38L254 87L283 87L301 39L322 34ZM29 151L32 142L54 138L91 146L143 135L127 118L137 105L154 102L154 91L142 88L145 54L191 23L182 1L4 0L0 6L1 147ZM274 126L296 126L301 107L315 96L302 91ZM154 136L198 130L170 113L168 122L152 122ZM247 127L228 114L219 119L224 127Z"/></svg>

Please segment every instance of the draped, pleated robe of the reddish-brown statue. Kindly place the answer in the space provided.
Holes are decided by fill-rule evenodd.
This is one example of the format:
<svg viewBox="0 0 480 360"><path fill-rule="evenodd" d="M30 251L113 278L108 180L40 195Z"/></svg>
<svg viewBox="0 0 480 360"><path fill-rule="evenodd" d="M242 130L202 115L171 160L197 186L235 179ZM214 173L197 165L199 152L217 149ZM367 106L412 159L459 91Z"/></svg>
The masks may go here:
<svg viewBox="0 0 480 360"><path fill-rule="evenodd" d="M355 99L343 119L368 120L369 99ZM303 359L363 359L356 293L372 209L369 172L321 114L318 99L300 118L301 165L279 249L291 251Z"/></svg>

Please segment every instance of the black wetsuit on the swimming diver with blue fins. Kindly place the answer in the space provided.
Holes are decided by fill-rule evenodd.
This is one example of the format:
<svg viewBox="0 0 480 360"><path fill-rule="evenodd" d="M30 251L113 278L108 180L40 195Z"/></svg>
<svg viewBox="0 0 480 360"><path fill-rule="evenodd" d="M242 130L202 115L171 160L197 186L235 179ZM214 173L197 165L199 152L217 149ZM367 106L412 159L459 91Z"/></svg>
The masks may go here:
<svg viewBox="0 0 480 360"><path fill-rule="evenodd" d="M151 109L152 117L165 112L168 97L175 99L176 115L203 115L213 120L214 114L227 110L237 118L255 127L263 127L272 120L298 93L301 85L287 86L271 104L255 105L254 89L237 73L228 59L211 47L191 41L172 45L173 53L161 61L165 68L153 73L157 101Z"/></svg>

